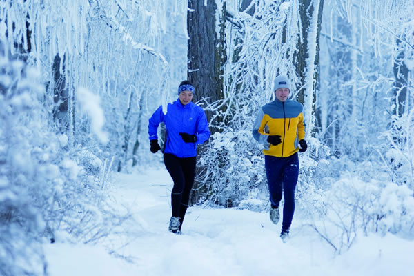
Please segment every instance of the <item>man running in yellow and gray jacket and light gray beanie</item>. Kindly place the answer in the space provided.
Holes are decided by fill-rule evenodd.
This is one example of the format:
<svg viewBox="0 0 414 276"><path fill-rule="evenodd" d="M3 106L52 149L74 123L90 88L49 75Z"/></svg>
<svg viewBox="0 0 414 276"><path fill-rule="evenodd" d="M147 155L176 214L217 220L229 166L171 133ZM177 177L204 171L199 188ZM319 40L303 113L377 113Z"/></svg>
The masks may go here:
<svg viewBox="0 0 414 276"><path fill-rule="evenodd" d="M290 81L284 76L275 79L275 101L260 108L253 137L264 144L264 160L270 193L270 220L279 222L279 202L284 196L282 232L286 242L295 212L295 188L299 176L297 152L308 148L305 141L303 106L288 99ZM299 148L300 145L300 148Z"/></svg>

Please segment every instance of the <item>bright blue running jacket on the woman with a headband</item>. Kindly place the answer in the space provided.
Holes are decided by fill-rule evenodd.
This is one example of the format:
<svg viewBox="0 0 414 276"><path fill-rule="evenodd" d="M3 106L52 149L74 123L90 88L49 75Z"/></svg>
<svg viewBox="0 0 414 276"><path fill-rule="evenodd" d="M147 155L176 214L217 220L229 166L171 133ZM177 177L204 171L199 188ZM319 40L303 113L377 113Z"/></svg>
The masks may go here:
<svg viewBox="0 0 414 276"><path fill-rule="evenodd" d="M166 144L164 153L171 153L177 157L195 157L197 155L197 144L203 144L210 137L207 118L204 110L190 102L183 106L179 99L168 103L167 114L162 112L162 106L155 110L148 124L148 135L150 140L158 139L157 128L159 123L166 125ZM186 143L179 135L186 132L196 135L195 143Z"/></svg>

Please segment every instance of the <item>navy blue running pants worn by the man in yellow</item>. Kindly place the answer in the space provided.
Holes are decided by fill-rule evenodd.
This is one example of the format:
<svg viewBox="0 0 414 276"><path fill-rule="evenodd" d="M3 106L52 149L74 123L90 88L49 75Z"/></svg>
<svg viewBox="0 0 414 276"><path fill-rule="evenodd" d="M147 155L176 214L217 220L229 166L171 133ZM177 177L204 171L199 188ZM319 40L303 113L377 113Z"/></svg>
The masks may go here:
<svg viewBox="0 0 414 276"><path fill-rule="evenodd" d="M264 156L270 204L279 207L284 196L282 230L288 231L295 212L295 188L299 176L297 152L289 157Z"/></svg>

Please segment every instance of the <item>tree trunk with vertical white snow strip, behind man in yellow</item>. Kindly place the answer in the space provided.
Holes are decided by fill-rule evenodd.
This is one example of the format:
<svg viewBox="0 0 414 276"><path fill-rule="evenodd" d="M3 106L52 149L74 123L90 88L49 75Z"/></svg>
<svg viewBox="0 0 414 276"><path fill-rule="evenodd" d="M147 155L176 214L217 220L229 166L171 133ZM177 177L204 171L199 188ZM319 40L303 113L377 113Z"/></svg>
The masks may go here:
<svg viewBox="0 0 414 276"><path fill-rule="evenodd" d="M323 8L324 0L299 1L302 39L299 39L298 52L294 57L294 62L300 80L298 100L305 106L305 120L308 132L313 131L313 118L317 115L315 110L315 91L319 83L319 37Z"/></svg>

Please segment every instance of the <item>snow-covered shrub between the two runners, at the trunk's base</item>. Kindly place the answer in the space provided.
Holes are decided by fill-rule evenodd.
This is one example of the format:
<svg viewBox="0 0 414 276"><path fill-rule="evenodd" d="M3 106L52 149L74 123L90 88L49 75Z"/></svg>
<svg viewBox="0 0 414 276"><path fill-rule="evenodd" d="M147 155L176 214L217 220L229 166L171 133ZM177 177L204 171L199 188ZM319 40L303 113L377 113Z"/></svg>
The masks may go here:
<svg viewBox="0 0 414 276"><path fill-rule="evenodd" d="M248 130L216 132L210 137L210 146L199 159L203 178L197 180L206 189L201 201L237 206L243 199L250 199L251 190L257 190L257 199L266 203L264 157L255 143Z"/></svg>

